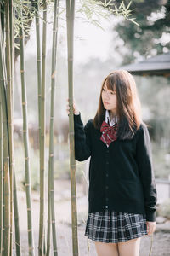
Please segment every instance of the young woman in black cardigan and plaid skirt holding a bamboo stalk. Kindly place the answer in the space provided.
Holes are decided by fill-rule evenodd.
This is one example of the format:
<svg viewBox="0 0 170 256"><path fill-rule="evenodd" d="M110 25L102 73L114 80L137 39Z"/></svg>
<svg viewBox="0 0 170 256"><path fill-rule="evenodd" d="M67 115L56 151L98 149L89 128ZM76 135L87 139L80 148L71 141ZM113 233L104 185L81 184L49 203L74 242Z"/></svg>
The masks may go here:
<svg viewBox="0 0 170 256"><path fill-rule="evenodd" d="M97 113L85 126L76 102L73 111L75 158L91 157L85 235L98 256L138 256L141 236L156 230L157 197L133 76L116 70L104 79Z"/></svg>

